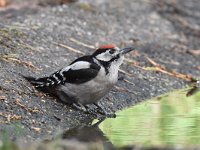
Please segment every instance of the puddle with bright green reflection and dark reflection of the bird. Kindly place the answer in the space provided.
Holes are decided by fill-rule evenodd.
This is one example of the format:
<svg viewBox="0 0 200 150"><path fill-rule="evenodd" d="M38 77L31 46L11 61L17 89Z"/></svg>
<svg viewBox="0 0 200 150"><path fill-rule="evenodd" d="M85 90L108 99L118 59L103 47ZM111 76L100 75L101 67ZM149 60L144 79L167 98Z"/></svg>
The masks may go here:
<svg viewBox="0 0 200 150"><path fill-rule="evenodd" d="M193 87L156 97L118 112L114 119L68 130L63 138L101 143L104 149L199 144L200 92Z"/></svg>

